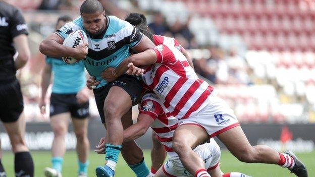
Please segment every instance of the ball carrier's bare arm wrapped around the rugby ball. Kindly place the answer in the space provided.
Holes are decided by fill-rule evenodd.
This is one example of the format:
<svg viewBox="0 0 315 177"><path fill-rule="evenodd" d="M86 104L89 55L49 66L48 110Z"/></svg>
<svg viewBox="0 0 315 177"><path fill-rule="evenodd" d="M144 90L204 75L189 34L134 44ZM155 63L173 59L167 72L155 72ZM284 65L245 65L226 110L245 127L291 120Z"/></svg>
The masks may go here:
<svg viewBox="0 0 315 177"><path fill-rule="evenodd" d="M48 56L71 56L76 60L82 60L87 55L87 43L75 48L63 45L64 39L53 33L46 37L39 45L39 51Z"/></svg>

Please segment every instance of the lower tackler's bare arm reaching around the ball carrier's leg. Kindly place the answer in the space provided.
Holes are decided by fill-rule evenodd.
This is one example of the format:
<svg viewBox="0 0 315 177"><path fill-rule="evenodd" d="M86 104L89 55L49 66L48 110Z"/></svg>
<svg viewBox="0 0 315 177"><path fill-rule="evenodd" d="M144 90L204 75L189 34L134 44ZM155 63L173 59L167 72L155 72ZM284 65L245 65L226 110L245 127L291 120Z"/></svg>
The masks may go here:
<svg viewBox="0 0 315 177"><path fill-rule="evenodd" d="M124 142L135 140L145 134L148 128L153 123L153 119L150 115L140 113L138 115L137 123L128 127L124 131Z"/></svg>

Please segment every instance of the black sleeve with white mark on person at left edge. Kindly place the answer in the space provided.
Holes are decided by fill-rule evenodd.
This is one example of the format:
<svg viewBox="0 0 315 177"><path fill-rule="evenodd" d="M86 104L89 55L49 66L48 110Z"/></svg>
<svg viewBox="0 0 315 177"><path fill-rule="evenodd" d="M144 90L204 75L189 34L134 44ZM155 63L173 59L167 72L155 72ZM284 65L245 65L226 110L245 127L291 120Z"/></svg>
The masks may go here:
<svg viewBox="0 0 315 177"><path fill-rule="evenodd" d="M20 35L20 34L28 34L27 25L25 23L24 17L20 10L15 9L11 18L11 35L12 38Z"/></svg>

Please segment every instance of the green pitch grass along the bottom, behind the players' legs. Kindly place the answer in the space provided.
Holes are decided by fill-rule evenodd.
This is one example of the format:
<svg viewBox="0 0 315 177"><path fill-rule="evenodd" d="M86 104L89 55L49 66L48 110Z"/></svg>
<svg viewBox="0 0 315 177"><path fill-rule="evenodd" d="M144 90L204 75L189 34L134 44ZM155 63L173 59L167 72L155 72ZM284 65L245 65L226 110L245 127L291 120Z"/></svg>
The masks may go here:
<svg viewBox="0 0 315 177"><path fill-rule="evenodd" d="M50 152L48 151L33 151L35 163L35 176L43 176L43 169L46 166L51 166L50 163ZM150 167L150 151L145 150L145 161ZM315 176L315 151L311 153L300 153L297 154L298 157L306 164L308 168L308 176ZM88 169L89 176L95 176L95 167L97 165L102 165L104 162L104 155L98 155L94 152L90 152L89 157L90 165ZM14 176L14 156L11 152L4 152L2 162L8 173L8 177ZM246 164L239 162L234 156L232 156L228 151L222 150L221 156L221 169L224 172L228 171L238 171L251 176L258 177L291 177L295 176L289 173L289 170L281 168L277 165L270 164ZM68 151L65 155L64 166L63 166L63 176L64 177L76 177L78 170L77 157L75 151ZM119 157L119 161L116 167L116 175L120 176L135 176L134 173L129 169L127 164L124 162L122 157Z"/></svg>

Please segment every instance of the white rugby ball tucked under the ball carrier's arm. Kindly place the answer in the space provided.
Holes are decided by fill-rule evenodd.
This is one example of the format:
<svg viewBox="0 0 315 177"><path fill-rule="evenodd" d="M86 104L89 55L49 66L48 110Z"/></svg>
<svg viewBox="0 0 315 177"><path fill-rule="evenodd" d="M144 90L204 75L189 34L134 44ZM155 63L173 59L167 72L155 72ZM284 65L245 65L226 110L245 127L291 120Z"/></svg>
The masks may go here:
<svg viewBox="0 0 315 177"><path fill-rule="evenodd" d="M66 37L63 45L75 48L78 45L83 44L84 42L87 42L87 36L86 36L85 32L83 30L77 30L77 31L73 31L72 33L70 33ZM63 56L62 60L66 64L69 64L69 65L78 62L75 58L73 58L71 56Z"/></svg>

